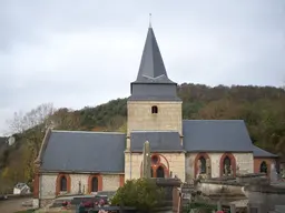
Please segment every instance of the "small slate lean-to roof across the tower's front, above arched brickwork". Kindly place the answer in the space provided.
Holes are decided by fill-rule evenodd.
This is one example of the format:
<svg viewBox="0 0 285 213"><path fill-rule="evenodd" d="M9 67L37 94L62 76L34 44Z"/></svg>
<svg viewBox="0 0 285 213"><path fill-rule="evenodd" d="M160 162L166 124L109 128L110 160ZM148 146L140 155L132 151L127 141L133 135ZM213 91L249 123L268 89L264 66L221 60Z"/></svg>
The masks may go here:
<svg viewBox="0 0 285 213"><path fill-rule="evenodd" d="M150 144L151 152L184 152L178 132L135 131L130 133L130 150L142 152L146 141Z"/></svg>

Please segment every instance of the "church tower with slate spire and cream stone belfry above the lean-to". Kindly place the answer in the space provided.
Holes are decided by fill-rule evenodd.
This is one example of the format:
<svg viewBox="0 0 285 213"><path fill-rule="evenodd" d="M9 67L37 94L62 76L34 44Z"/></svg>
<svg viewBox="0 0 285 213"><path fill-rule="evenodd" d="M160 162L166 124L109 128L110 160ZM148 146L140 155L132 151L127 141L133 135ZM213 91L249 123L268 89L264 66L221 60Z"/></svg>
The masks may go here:
<svg viewBox="0 0 285 213"><path fill-rule="evenodd" d="M151 26L130 93L127 102L127 150L132 131L174 131L183 134L183 102L177 97L177 83L167 75Z"/></svg>

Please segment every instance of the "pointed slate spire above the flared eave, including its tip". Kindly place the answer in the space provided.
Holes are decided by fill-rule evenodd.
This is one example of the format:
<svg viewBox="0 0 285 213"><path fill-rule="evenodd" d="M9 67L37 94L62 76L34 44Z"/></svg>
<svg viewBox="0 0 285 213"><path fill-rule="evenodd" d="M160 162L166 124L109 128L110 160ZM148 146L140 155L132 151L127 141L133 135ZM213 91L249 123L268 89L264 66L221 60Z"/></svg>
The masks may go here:
<svg viewBox="0 0 285 213"><path fill-rule="evenodd" d="M151 18L151 13L149 18ZM150 20L136 82L174 83L167 77Z"/></svg>

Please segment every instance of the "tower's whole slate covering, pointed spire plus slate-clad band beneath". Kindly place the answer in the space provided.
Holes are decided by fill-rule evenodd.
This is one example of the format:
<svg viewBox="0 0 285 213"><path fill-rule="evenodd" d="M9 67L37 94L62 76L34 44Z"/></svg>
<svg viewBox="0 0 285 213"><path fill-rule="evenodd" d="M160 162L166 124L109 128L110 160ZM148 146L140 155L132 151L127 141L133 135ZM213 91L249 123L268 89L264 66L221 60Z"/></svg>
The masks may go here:
<svg viewBox="0 0 285 213"><path fill-rule="evenodd" d="M167 75L153 28L148 29L137 80L130 88L129 101L181 101L177 83Z"/></svg>

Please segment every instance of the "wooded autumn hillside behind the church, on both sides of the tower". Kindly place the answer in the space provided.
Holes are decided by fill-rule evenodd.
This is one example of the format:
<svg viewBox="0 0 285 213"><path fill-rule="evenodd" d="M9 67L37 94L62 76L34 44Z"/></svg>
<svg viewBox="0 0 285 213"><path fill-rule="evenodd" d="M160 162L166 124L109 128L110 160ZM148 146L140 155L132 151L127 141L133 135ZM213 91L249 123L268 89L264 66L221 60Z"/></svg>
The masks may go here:
<svg viewBox="0 0 285 213"><path fill-rule="evenodd" d="M178 93L184 101L184 119L245 120L255 144L285 156L284 89L253 85L210 88L184 83L178 87ZM0 158L0 183L11 185L17 181L32 181L31 165L47 126L61 130L125 131L127 99L117 99L78 111L67 108L55 111L52 105L42 104L22 118L16 118L13 126L18 132L17 142ZM26 125L22 121L26 121Z"/></svg>

